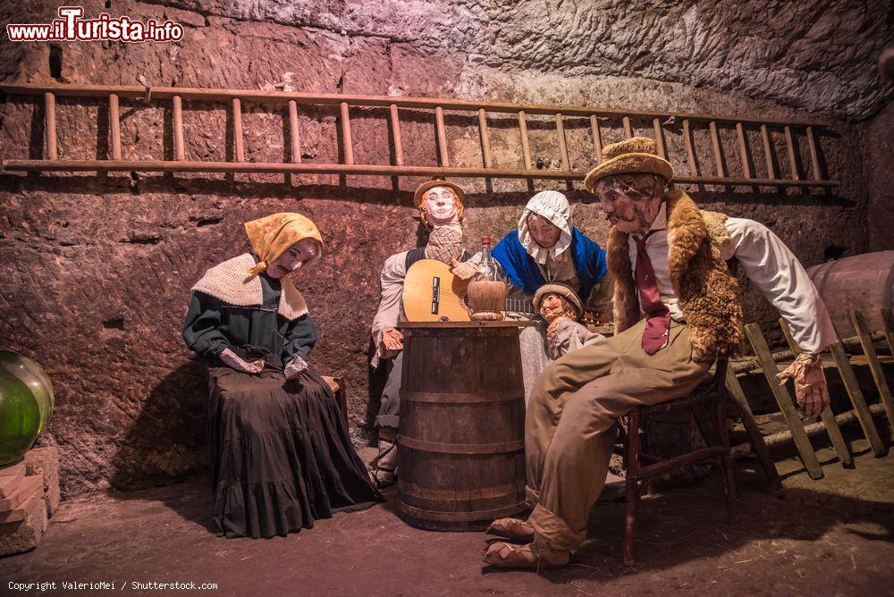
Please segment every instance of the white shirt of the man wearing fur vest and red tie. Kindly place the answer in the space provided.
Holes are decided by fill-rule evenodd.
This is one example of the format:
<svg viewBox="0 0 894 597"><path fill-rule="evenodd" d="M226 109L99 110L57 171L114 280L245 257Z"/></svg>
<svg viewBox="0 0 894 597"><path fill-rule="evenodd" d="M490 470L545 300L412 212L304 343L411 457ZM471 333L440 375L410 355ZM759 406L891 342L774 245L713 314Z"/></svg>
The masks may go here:
<svg viewBox="0 0 894 597"><path fill-rule="evenodd" d="M730 232L730 242L721 247L721 258L738 259L748 279L789 323L797 345L807 352L820 352L838 341L814 282L782 240L754 220L730 217L725 226ZM662 303L675 321L683 321L668 266L667 203L662 203L650 230L654 233L645 240L645 250L652 261ZM628 251L630 263L636 267L637 242L632 234Z"/></svg>

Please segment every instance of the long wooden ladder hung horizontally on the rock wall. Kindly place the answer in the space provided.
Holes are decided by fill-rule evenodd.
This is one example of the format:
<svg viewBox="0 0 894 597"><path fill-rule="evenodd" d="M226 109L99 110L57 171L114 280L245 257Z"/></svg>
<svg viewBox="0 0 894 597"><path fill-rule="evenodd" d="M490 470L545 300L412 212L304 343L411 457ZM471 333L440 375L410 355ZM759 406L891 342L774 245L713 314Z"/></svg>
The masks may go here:
<svg viewBox="0 0 894 597"><path fill-rule="evenodd" d="M816 187L834 188L838 181L827 180L822 172L820 160L820 143L815 130L828 127L825 122L806 122L797 120L747 119L736 116L712 114L683 114L669 112L647 112L620 109L603 109L576 107L569 105L534 105L499 102L464 101L431 97L384 97L342 94L307 94L285 91L262 91L252 89L206 89L206 88L173 88L173 87L139 87L139 86L103 86L103 85L41 85L41 84L0 84L0 91L6 95L24 95L42 98L44 110L43 159L4 159L2 164L6 171L32 172L280 172L280 173L316 173L316 174L360 174L381 176L452 176L472 178L515 178L515 179L553 179L576 181L586 175L586 170L575 170L569 156L566 131L570 123L578 121L584 124L592 135L592 161L586 160L586 168L602 159L603 130L606 121L620 122L620 128L626 137L635 133L634 125L641 125L641 130L649 130L657 142L659 153L667 156L669 147L664 139L668 126L681 124L682 140L686 148L687 172L679 172L675 181L690 184L717 184L725 186L748 187ZM56 138L56 105L57 97L76 97L96 100L106 98L109 107L109 149L106 159L65 160L59 158ZM122 141L119 105L123 98L142 99L147 104L169 103L171 106L171 130L173 131L173 152L171 159L131 160L122 159ZM38 99L40 101L40 99ZM183 111L190 101L219 102L232 111L232 161L191 161L185 157L185 144L188 138L183 126ZM245 102L266 105L271 110L288 111L287 130L291 148L289 162L253 162L246 156L243 145L242 109ZM298 106L335 106L338 108L339 120L339 157L336 163L308 163L301 160L301 140L298 126ZM351 129L351 108L379 107L387 110L390 142L394 149L391 164L357 164L354 159ZM481 143L481 165L457 165L450 155L450 144L447 138L447 126L444 122L444 111L465 113L472 122L477 120L477 128ZM401 143L401 111L433 111L436 132L437 163L431 165L408 165ZM514 114L518 118L519 144L521 160L518 168L494 167L490 135L488 133L488 114ZM561 164L559 169L538 169L531 156L527 117L531 114L546 115L554 120L555 135L559 156L555 163ZM602 121L602 122L601 122ZM543 121L538 121L542 123ZM710 134L710 153L714 164L711 173L701 172L698 165L697 147L693 135L693 126L698 123ZM706 126L705 126L706 125ZM744 176L730 176L730 169L724 164L719 126L730 127L736 131L736 152L743 166ZM601 130L601 127L603 130ZM761 153L766 161L766 175L757 178L748 159L748 144L744 127L760 130L762 142ZM789 177L783 178L773 160L773 143L770 130L784 133L786 155L789 162ZM810 150L809 172L798 172L797 138L805 137ZM733 158L734 159L734 158ZM806 165L805 165L806 167Z"/></svg>

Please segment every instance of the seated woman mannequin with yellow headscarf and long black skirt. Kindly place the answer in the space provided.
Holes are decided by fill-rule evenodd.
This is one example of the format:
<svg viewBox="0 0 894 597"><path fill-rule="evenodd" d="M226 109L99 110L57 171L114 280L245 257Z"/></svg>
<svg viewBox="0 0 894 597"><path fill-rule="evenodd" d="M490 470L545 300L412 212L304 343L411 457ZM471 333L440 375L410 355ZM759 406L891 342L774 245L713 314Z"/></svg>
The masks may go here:
<svg viewBox="0 0 894 597"><path fill-rule="evenodd" d="M290 274L323 240L300 214L245 224L253 254L192 287L186 345L205 357L215 530L272 537L382 496L350 444L332 390L308 366L316 324Z"/></svg>

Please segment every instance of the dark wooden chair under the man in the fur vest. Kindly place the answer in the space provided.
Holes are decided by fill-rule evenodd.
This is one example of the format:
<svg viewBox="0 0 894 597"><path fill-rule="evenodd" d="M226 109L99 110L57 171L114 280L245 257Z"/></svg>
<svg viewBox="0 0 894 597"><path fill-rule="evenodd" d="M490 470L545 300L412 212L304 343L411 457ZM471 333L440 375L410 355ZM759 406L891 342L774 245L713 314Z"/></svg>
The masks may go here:
<svg viewBox="0 0 894 597"><path fill-rule="evenodd" d="M650 477L679 470L703 460L717 459L723 473L723 491L727 497L730 520L734 517L733 504L736 499L736 488L733 483L730 434L726 421L726 402L729 398L724 383L726 371L727 358L721 357L717 361L713 380L701 384L693 393L655 406L634 408L626 416L628 423L624 438L624 458L627 465L627 526L624 531L624 563L626 565L633 566L635 562L634 539L640 483ZM702 416L702 413L699 412L701 408L713 409L713 422L710 425L708 421L711 417ZM645 417L680 409L687 410L696 417L699 431L709 445L673 458L659 458L642 451L639 431L645 423ZM709 432L708 427L713 427L713 430ZM651 464L641 466L640 460L650 461Z"/></svg>

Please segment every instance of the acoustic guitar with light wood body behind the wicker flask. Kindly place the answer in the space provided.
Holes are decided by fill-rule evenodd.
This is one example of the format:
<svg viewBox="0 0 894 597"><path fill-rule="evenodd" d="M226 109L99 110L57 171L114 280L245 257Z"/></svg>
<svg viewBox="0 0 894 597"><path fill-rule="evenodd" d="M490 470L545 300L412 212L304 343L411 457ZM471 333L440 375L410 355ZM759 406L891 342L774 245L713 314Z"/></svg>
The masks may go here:
<svg viewBox="0 0 894 597"><path fill-rule="evenodd" d="M466 290L471 280L461 280L450 265L437 259L420 259L409 266L403 281L403 312L410 322L468 322ZM507 298L504 311L534 315L526 298Z"/></svg>

